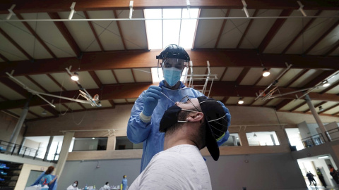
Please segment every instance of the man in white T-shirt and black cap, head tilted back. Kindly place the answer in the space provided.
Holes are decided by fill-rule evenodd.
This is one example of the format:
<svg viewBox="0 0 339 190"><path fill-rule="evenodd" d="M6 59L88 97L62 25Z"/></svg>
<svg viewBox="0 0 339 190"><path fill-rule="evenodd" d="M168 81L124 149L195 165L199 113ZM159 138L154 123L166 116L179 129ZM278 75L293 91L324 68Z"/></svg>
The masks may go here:
<svg viewBox="0 0 339 190"><path fill-rule="evenodd" d="M168 108L160 121L164 151L157 153L131 184L132 189L212 189L199 150L207 146L219 158L217 139L227 132L222 105L200 96Z"/></svg>

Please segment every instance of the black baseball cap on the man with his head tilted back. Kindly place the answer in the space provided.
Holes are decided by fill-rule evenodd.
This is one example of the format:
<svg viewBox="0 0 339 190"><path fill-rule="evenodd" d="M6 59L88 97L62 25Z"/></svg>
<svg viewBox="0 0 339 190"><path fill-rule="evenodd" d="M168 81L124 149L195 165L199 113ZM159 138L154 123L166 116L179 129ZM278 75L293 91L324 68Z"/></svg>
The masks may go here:
<svg viewBox="0 0 339 190"><path fill-rule="evenodd" d="M206 123L206 147L213 160L217 161L220 156L217 137L221 137L227 132L227 119L222 105L215 99L208 99L206 96L197 98Z"/></svg>

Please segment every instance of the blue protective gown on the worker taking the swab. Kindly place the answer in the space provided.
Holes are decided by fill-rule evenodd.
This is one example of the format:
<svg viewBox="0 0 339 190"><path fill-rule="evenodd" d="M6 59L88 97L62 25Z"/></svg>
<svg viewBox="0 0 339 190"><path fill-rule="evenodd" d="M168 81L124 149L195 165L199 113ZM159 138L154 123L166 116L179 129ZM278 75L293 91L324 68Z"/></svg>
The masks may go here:
<svg viewBox="0 0 339 190"><path fill-rule="evenodd" d="M159 87L162 88L162 93L174 102L181 101L184 96L196 98L205 96L200 91L192 88L187 88L182 83L179 89L168 89L165 87L165 82L162 80ZM174 103L167 99L163 94L155 107L150 122L143 122L139 114L143 111L143 96L145 91L138 97L131 110L131 118L127 125L127 137L134 144L143 142L143 157L141 158L141 172L150 163L150 160L155 154L164 150L165 133L159 132L159 123L167 108L174 106ZM219 146L227 141L230 134L227 130L225 136L218 141Z"/></svg>

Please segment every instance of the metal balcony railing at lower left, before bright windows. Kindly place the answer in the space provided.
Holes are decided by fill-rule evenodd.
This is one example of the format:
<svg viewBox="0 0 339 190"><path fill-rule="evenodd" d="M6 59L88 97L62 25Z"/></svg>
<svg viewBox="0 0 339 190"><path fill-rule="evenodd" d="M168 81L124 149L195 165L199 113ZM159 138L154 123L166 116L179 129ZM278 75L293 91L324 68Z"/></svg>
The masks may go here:
<svg viewBox="0 0 339 190"><path fill-rule="evenodd" d="M39 159L48 162L57 162L58 159L56 157L59 156L58 153L52 153L54 159L53 160L45 160L46 151L41 151L39 149L30 148L27 146L21 146L19 144L13 144L8 141L0 140L0 153L11 154L15 156L21 156L23 158L32 158L33 160ZM51 154L51 153L49 153ZM48 158L48 155L47 155Z"/></svg>

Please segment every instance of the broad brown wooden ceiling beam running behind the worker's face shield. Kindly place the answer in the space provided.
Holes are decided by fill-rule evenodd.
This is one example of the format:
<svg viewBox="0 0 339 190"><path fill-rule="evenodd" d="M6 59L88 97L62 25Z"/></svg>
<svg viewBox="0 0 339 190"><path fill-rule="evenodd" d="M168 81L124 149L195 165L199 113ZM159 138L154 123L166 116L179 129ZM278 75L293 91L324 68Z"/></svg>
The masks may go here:
<svg viewBox="0 0 339 190"><path fill-rule="evenodd" d="M191 56L195 67L206 67L206 61L210 61L210 67L230 68L261 68L256 50L186 50ZM81 71L109 70L120 68L153 68L156 66L155 56L161 51L110 51L83 53L81 59ZM244 56L246 55L246 56ZM339 70L339 57L321 57L280 54L263 54L261 61L267 68L286 68L285 62L292 64L292 68ZM5 72L14 72L18 75L38 75L54 72L65 72L69 65L79 65L78 58L39 59L34 63L30 61L12 61L8 64L0 64L0 77L7 76ZM94 64L95 63L95 64Z"/></svg>

